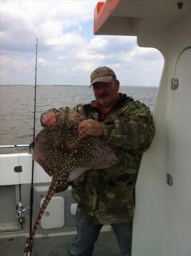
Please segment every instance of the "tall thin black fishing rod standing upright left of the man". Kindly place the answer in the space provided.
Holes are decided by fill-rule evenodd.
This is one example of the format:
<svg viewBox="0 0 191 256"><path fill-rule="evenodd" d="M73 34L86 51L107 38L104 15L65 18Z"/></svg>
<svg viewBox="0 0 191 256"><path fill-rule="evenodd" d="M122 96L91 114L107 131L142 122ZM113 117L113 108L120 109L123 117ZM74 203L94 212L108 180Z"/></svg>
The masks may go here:
<svg viewBox="0 0 191 256"><path fill-rule="evenodd" d="M35 64L35 104L34 104L34 126L33 126L33 142L32 142L32 149L34 150L35 146L35 124L36 124L36 67L37 67L37 49L38 49L38 38L36 38L36 64ZM31 192L30 192L30 236L32 234L32 213L33 213L33 201L34 201L34 159L32 159L32 177L31 177ZM30 253L32 251L32 246Z"/></svg>

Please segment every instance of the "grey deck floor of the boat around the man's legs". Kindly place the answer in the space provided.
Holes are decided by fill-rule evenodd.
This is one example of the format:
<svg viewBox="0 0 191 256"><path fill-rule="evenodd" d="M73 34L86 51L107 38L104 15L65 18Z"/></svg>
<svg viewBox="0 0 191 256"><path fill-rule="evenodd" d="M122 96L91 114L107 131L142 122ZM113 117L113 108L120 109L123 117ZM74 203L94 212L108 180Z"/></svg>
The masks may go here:
<svg viewBox="0 0 191 256"><path fill-rule="evenodd" d="M31 256L67 256L67 250L75 235L49 237L47 241L35 238ZM23 256L26 237L0 239L1 256ZM120 256L114 233L101 232L95 245L93 256Z"/></svg>

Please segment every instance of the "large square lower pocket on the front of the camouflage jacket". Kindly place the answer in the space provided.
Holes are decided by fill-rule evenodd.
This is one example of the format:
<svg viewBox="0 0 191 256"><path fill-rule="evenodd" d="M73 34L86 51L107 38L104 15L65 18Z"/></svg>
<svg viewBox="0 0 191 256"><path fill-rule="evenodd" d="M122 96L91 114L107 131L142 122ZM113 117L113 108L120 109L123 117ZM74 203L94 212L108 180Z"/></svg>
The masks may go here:
<svg viewBox="0 0 191 256"><path fill-rule="evenodd" d="M108 210L134 208L135 187L132 182L108 183L105 189L105 207Z"/></svg>

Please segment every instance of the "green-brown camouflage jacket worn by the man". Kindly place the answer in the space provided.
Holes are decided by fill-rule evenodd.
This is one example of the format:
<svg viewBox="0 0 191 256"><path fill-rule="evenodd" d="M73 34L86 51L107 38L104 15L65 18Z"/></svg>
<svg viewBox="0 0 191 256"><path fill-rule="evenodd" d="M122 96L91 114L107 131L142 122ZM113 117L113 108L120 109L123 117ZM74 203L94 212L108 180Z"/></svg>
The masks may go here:
<svg viewBox="0 0 191 256"><path fill-rule="evenodd" d="M99 109L93 104L79 104L74 110L99 121ZM113 148L118 163L84 172L73 181L72 195L90 224L130 222L140 161L155 135L152 115L146 105L123 94L101 124L103 140Z"/></svg>

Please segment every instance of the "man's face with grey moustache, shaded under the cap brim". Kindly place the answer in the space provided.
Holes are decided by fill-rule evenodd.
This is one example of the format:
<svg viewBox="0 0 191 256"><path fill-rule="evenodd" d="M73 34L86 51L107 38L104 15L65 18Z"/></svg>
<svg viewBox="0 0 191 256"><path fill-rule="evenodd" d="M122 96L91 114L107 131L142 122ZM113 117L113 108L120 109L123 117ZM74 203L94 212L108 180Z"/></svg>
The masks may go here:
<svg viewBox="0 0 191 256"><path fill-rule="evenodd" d="M103 107L112 107L119 98L119 81L95 82L93 84L94 96Z"/></svg>

